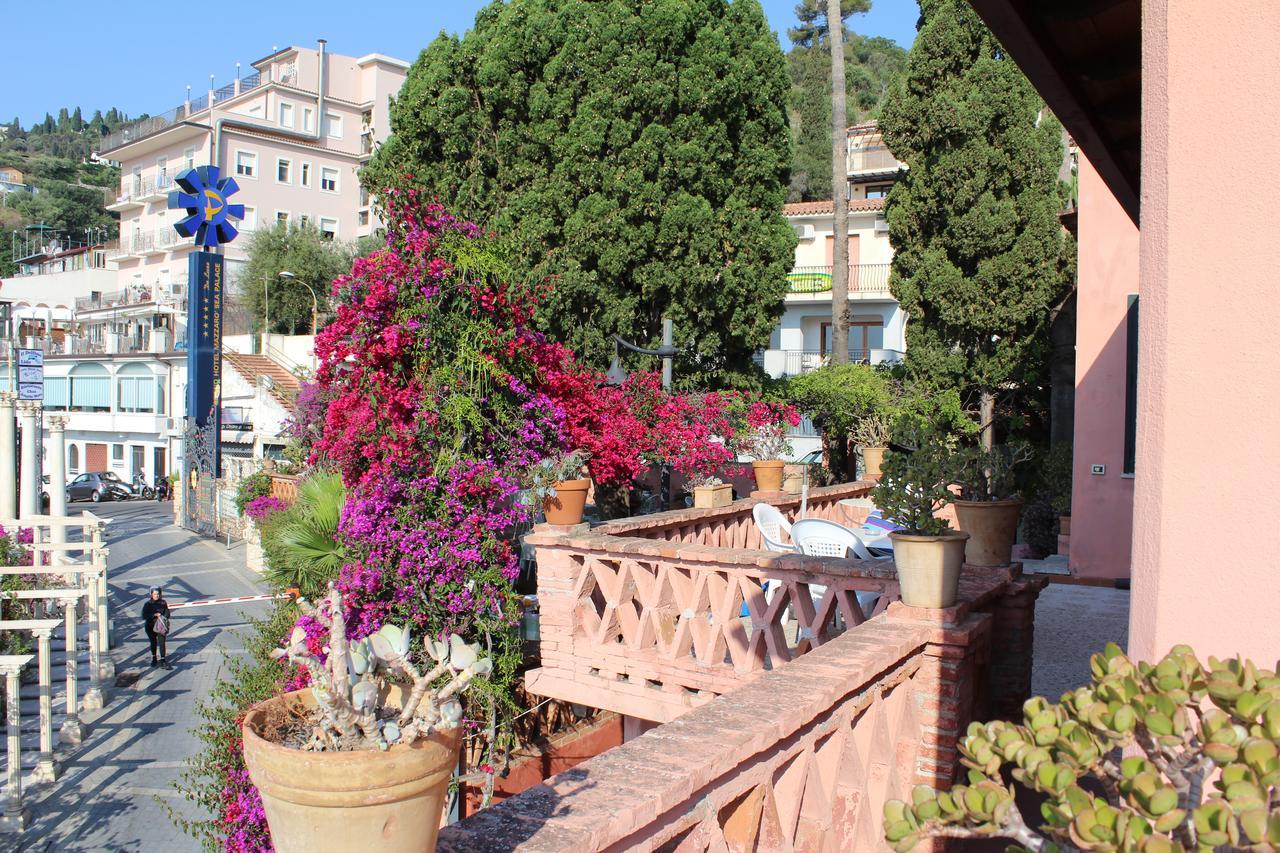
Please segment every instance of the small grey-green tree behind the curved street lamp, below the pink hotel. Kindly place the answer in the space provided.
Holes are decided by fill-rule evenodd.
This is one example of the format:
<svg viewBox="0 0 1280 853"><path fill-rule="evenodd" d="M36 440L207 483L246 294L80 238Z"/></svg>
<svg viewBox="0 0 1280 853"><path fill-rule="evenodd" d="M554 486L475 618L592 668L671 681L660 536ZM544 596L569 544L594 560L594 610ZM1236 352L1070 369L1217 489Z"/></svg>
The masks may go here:
<svg viewBox="0 0 1280 853"><path fill-rule="evenodd" d="M253 232L248 263L239 277L238 302L248 313L255 330L275 334L311 332L312 293L317 324L329 313L329 284L351 272L356 248L351 243L324 240L314 225L276 223ZM282 278L282 272L293 278Z"/></svg>

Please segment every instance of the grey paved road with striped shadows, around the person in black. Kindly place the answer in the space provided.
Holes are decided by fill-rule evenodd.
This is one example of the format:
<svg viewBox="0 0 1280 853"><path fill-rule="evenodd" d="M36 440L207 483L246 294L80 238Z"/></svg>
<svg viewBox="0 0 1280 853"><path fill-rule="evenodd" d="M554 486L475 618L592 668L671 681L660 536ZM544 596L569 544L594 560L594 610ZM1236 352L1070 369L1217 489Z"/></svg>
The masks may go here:
<svg viewBox="0 0 1280 853"><path fill-rule="evenodd" d="M72 505L72 512L88 506ZM96 515L111 519L116 675L141 678L113 688L108 707L86 715L84 744L59 751L63 775L56 783L24 792L32 824L17 844L12 838L0 840L0 849L200 849L174 826L160 800L192 815L172 783L200 745L189 733L196 701L212 688L224 654L242 653L236 629L244 625L244 613L265 612L268 605L177 611L169 640L174 669L150 669L140 612L151 585L163 585L170 603L264 592L244 569L243 544L228 551L223 543L174 528L172 510L172 503L155 502L92 506Z"/></svg>

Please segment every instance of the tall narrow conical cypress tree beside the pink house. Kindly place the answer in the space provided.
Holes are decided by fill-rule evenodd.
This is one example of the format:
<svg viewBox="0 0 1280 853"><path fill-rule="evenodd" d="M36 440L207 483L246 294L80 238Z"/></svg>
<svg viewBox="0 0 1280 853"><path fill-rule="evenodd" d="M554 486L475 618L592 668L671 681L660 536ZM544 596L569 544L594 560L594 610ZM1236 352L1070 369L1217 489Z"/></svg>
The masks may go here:
<svg viewBox="0 0 1280 853"><path fill-rule="evenodd" d="M1074 247L1057 219L1060 126L965 0L922 0L905 77L881 114L910 167L886 205L908 366L980 401L1043 370Z"/></svg>

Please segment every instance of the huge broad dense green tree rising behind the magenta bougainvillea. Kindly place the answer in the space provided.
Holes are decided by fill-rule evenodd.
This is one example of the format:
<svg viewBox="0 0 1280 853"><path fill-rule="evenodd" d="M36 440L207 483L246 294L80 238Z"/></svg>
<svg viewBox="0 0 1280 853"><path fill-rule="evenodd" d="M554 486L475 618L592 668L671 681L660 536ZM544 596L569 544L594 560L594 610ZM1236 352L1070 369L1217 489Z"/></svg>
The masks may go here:
<svg viewBox="0 0 1280 853"><path fill-rule="evenodd" d="M658 343L668 315L677 380L732 384L792 260L786 95L758 0L493 3L421 54L361 179L503 234L586 361L613 334Z"/></svg>

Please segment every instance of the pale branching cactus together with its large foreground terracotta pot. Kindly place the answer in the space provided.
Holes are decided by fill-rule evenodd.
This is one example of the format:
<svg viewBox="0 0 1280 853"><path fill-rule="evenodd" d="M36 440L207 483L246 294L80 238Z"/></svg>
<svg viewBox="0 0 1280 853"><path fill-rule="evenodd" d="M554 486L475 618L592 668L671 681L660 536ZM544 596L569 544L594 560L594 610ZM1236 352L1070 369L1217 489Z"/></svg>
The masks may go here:
<svg viewBox="0 0 1280 853"><path fill-rule="evenodd" d="M434 849L458 760L458 697L490 660L456 635L415 653L394 625L348 640L332 585L316 606L298 603L328 643L316 653L300 620L275 656L302 666L311 686L253 706L242 725L275 849Z"/></svg>

